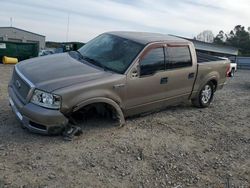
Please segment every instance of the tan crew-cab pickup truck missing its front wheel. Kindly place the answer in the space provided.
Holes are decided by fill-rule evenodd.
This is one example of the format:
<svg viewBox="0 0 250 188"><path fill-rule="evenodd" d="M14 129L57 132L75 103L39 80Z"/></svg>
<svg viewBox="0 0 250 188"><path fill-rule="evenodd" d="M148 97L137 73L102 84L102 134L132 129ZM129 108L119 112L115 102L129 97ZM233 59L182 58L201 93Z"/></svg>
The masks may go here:
<svg viewBox="0 0 250 188"><path fill-rule="evenodd" d="M144 32L107 32L78 51L15 65L9 102L22 125L58 134L75 114L125 118L182 101L208 107L226 82L228 60L202 61L192 42ZM95 110L93 110L95 109Z"/></svg>

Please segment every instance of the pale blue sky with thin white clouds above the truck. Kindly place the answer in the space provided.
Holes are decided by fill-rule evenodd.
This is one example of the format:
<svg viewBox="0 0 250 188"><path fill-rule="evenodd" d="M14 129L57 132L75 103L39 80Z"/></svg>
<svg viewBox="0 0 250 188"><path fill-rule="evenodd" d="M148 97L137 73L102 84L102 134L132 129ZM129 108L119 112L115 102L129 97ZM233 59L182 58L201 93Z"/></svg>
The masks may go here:
<svg viewBox="0 0 250 188"><path fill-rule="evenodd" d="M87 42L114 30L149 31L194 37L235 25L250 26L250 0L0 0L0 26Z"/></svg>

